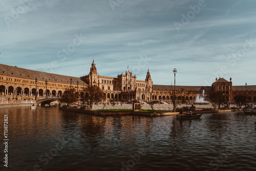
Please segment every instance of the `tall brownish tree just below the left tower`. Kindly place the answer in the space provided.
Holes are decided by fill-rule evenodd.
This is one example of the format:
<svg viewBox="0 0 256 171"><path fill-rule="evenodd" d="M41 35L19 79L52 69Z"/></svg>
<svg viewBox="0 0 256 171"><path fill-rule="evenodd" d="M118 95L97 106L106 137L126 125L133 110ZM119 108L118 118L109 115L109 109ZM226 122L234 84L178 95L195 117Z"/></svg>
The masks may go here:
<svg viewBox="0 0 256 171"><path fill-rule="evenodd" d="M83 91L88 93L88 96L84 97L84 102L88 105L89 110L92 110L93 103L100 102L104 99L102 90L95 85L88 86Z"/></svg>

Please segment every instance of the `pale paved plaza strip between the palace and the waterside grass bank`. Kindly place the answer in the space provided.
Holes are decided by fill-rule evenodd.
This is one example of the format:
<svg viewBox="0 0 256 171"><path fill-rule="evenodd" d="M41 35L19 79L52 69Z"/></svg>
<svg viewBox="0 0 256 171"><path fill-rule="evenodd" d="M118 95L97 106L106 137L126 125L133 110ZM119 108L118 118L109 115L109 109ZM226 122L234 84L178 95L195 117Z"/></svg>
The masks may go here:
<svg viewBox="0 0 256 171"><path fill-rule="evenodd" d="M178 108L180 108L181 106L191 106L191 104L182 104L179 105ZM196 106L196 110L201 110L204 108L212 108L212 106L209 105L195 105ZM233 107L234 105L230 105L230 108ZM99 105L93 105L93 110L99 110L103 108L103 104L99 104ZM172 111L173 110L173 105L172 104L154 104L153 106L154 110L160 110L160 111ZM104 109L133 109L133 105L132 104L116 104L115 108L113 108L113 106L110 105L106 105ZM142 109L143 110L151 110L151 107L149 104L143 104L142 105Z"/></svg>

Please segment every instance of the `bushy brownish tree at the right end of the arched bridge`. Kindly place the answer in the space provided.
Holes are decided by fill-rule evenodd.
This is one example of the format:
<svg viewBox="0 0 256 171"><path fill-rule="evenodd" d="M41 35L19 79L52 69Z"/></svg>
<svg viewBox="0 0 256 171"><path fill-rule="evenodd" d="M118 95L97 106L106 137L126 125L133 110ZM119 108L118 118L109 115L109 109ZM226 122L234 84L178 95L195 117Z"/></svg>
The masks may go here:
<svg viewBox="0 0 256 171"><path fill-rule="evenodd" d="M67 103L67 104L71 104L73 102L78 101L79 99L79 93L76 91L76 89L65 89L65 92L63 93L63 95L60 98L60 102L62 103Z"/></svg>

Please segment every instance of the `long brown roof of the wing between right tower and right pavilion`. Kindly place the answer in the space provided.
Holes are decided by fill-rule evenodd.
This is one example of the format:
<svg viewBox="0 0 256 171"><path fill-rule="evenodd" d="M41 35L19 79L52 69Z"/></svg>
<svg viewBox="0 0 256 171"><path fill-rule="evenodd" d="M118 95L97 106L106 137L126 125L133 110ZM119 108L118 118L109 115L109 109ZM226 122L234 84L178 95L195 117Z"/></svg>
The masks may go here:
<svg viewBox="0 0 256 171"><path fill-rule="evenodd" d="M184 89L184 91L202 91L202 90L209 91L212 89L212 87L211 86L175 86L175 89L176 90ZM154 91L158 91L158 90L170 91L170 90L174 90L174 86L153 84L153 90Z"/></svg>

